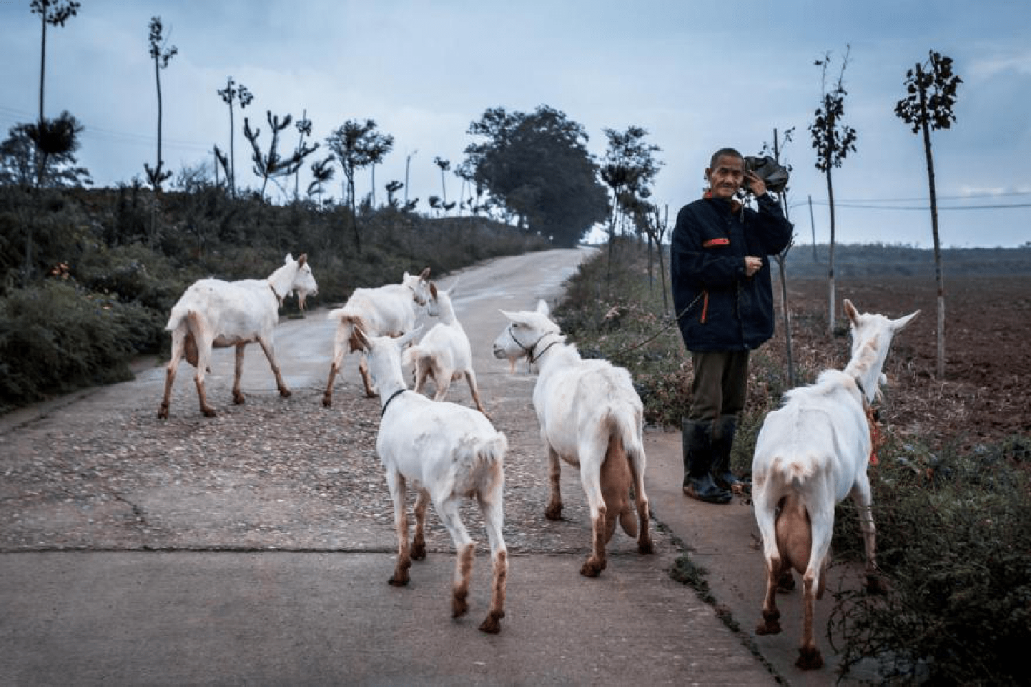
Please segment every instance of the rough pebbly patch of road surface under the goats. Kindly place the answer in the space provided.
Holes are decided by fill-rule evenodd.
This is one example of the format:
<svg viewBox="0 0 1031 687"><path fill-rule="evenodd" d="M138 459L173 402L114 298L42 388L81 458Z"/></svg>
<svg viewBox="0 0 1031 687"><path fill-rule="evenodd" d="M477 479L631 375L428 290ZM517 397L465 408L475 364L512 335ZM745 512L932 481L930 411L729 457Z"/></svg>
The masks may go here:
<svg viewBox="0 0 1031 687"><path fill-rule="evenodd" d="M536 418L522 394L488 396L491 381L485 400L509 443L506 545L512 553L586 555L590 522L576 471L564 471L565 520L544 519L546 466ZM86 412L79 402L77 413L0 435L0 550L396 548L375 454L379 404L357 384L338 384L330 409L321 405L321 389L295 389L289 399L248 393L242 406L218 389L215 418L198 413L193 389L184 385L168 420L157 419L157 398L130 394L120 405L128 389L100 389L86 400ZM411 503L409 490L409 509ZM462 513L486 551L475 505ZM430 549L452 550L432 508L427 540ZM663 545L661 535L657 543ZM618 533L610 551L634 552L635 543Z"/></svg>

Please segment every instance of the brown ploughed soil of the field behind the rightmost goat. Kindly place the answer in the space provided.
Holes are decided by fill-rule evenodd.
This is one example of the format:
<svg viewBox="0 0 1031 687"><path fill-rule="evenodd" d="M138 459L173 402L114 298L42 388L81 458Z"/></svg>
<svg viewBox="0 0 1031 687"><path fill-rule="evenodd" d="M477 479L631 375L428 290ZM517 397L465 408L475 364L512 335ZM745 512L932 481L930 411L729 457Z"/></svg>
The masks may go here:
<svg viewBox="0 0 1031 687"><path fill-rule="evenodd" d="M779 286L775 287L779 298ZM796 359L840 367L849 342L841 303L860 312L921 314L892 342L885 365L883 419L897 431L958 448L1031 435L1031 277L956 277L945 282L945 374L937 377L934 279L838 279L838 335L828 346L828 287L823 279L789 282ZM818 314L819 313L819 314ZM783 327L769 350L784 350ZM820 351L824 352L821 353ZM885 412L886 411L886 412Z"/></svg>

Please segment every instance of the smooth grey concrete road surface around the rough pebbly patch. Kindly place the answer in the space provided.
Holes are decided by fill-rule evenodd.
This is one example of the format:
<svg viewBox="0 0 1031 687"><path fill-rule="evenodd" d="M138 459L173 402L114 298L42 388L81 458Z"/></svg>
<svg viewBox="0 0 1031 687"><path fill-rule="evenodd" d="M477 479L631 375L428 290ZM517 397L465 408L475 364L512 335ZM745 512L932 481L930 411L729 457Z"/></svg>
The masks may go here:
<svg viewBox="0 0 1031 687"><path fill-rule="evenodd" d="M490 344L505 324L498 308L528 309L538 298L558 298L563 280L584 254L571 250L506 257L461 274L457 314L472 342L489 412L507 426L523 427L520 437L510 440L513 445L536 442L533 378L525 365L509 375L507 363L491 355ZM441 284L453 280L450 275ZM306 389L312 400L325 384L332 333L332 322L320 313L286 320L276 333L288 383L295 391ZM354 394L358 388L356 359L347 356L341 374L346 381L337 382L345 388L339 393ZM208 377L209 389L221 388L219 403L227 403L232 369L232 350L219 351ZM164 370L153 368L134 382L0 418L0 439L5 442L0 449L18 445L16 437L41 426L99 422L127 407L155 413L163 383ZM184 392L173 403L173 419L187 418L185 435L202 431L196 427L205 426L206 420L197 417L186 364L176 386ZM243 387L251 394L274 393L267 364L253 347ZM464 382L453 384L448 400L471 405ZM217 404L220 412L223 407ZM255 410L247 405L234 412ZM675 463L678 455L667 452L671 455L657 459ZM542 456L540 469L543 473ZM746 630L728 629L712 606L669 578L681 550L675 533L661 523L656 523L655 555L639 556L633 542L623 537L613 540L609 565L600 578L580 577L590 525L583 517L576 475L567 470L563 480L568 512L558 526L570 545L552 553L527 547L528 552L511 556L507 615L498 636L476 630L486 614L486 556L478 556L474 565L470 614L453 620L450 546L431 550L427 560L415 563L409 587L391 587L386 580L393 568L394 543L386 520L370 529L381 541L374 549L245 551L226 537L219 540L221 550L154 551L143 544L106 550L87 545L67 551L45 541L24 550L4 550L0 684L775 683L769 664L749 648ZM506 492L519 488L517 480L506 482ZM32 494L7 496L28 503ZM211 497L222 499L222 508L235 503L231 489ZM662 519L661 512L658 517ZM356 524L340 521L339 528ZM532 524L506 520L506 526L516 529ZM60 526L56 521L54 528ZM470 530L481 539L475 525L470 524ZM830 674L824 677L827 684L832 681Z"/></svg>

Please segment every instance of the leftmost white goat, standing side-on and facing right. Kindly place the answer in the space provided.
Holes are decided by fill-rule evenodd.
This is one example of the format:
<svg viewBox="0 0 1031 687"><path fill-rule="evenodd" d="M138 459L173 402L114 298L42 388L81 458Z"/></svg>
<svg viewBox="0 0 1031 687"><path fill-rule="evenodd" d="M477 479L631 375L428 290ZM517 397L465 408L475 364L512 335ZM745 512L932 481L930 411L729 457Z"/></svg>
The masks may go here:
<svg viewBox="0 0 1031 687"><path fill-rule="evenodd" d="M307 254L296 261L287 253L282 267L267 279L223 281L201 279L191 285L172 308L165 329L172 333L172 356L165 374L165 396L158 410L158 417L168 417L168 402L175 380L179 358L197 368L194 381L200 398L200 410L207 417L214 417L214 409L207 403L204 390L204 373L210 372L211 348L236 346L236 377L233 382L233 402L243 403L240 376L243 374L243 349L257 341L275 375L279 396L287 398L290 389L282 381L279 366L275 363L272 332L279 321L279 306L291 290L317 294L319 285L311 275Z"/></svg>

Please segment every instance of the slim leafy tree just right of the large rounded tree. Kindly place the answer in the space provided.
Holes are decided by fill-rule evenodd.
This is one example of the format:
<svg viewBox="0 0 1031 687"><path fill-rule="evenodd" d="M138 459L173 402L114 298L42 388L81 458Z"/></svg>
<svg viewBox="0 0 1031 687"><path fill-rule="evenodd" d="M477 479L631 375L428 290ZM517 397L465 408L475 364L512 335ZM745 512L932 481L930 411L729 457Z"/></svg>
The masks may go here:
<svg viewBox="0 0 1031 687"><path fill-rule="evenodd" d="M611 271L617 217L626 213L633 215L636 211L635 225L639 226L639 206L651 195L650 185L662 165L655 153L662 148L644 142L647 131L641 127L631 125L625 132L603 131L608 138L608 148L602 160L601 180L612 190L612 214L608 222L608 269ZM627 199L629 205L621 199Z"/></svg>

